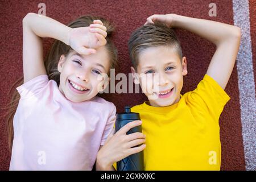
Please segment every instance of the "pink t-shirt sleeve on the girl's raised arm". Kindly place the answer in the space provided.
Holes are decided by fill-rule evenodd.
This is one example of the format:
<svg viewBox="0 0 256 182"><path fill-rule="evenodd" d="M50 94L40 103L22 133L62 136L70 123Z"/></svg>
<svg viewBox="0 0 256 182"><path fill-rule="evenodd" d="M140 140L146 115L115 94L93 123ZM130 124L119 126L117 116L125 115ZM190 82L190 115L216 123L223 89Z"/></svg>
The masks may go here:
<svg viewBox="0 0 256 182"><path fill-rule="evenodd" d="M47 75L39 75L26 83L18 86L16 89L20 94L20 98L29 98L39 93L40 90L47 85L49 78Z"/></svg>

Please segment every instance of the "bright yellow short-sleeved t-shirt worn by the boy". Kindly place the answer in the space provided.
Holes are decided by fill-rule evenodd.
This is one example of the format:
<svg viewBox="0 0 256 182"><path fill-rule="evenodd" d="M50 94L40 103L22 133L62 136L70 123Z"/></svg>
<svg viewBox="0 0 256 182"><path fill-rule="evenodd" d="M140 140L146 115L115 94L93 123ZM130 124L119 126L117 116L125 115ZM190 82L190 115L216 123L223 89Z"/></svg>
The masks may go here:
<svg viewBox="0 0 256 182"><path fill-rule="evenodd" d="M131 108L141 115L146 135L144 169L220 170L218 119L230 97L208 75L195 90L180 96L171 106L144 102Z"/></svg>

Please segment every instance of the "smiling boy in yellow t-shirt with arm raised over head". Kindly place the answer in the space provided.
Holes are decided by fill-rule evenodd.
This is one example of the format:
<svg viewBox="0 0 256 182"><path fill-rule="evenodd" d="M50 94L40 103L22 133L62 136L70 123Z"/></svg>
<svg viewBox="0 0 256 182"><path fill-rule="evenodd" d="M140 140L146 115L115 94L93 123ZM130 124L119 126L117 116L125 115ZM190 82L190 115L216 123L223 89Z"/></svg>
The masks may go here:
<svg viewBox="0 0 256 182"><path fill-rule="evenodd" d="M216 45L203 80L183 96L180 91L187 61L171 27L184 28ZM129 40L131 72L148 97L131 109L141 114L146 135L145 170L220 170L218 119L230 99L224 89L240 39L238 27L176 14L152 15L145 26L133 32ZM141 75L159 81L146 81Z"/></svg>

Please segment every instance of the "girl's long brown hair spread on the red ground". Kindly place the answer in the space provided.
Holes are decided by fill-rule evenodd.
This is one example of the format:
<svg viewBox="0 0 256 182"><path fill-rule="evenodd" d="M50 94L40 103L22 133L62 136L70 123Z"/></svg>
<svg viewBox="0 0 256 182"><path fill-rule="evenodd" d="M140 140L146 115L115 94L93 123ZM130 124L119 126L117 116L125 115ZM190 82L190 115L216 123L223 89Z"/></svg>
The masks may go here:
<svg viewBox="0 0 256 182"><path fill-rule="evenodd" d="M117 67L117 49L115 48L114 43L112 41L112 34L114 31L114 27L108 20L97 17L97 16L85 15L69 23L68 26L71 28L88 27L90 24L93 24L93 20L96 20L96 19L100 19L101 22L104 24L104 26L107 28L108 36L106 36L107 43L105 47L107 48L109 53L110 69L115 68ZM46 59L44 60L44 66L46 67L49 80L55 80L58 86L60 84L60 72L57 70L57 65L59 63L60 56L61 55L67 56L68 53L71 52L72 50L73 49L70 46L67 46L67 44L59 40L55 40ZM23 84L23 76L20 77L11 86L9 93L11 92L11 90L14 89L12 92L13 96L11 98L11 101L7 107L2 108L2 109L8 109L6 114L7 115L6 130L7 130L8 145L9 145L10 151L13 146L13 137L14 137L13 118L14 118L16 109L18 107L19 99L20 99L20 95L15 88L22 84Z"/></svg>

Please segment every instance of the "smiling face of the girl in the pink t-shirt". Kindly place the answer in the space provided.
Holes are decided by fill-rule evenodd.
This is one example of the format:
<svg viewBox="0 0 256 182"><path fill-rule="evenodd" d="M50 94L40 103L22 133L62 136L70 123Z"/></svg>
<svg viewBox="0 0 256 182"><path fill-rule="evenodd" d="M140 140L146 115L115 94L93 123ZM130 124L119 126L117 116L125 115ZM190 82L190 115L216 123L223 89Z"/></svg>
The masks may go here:
<svg viewBox="0 0 256 182"><path fill-rule="evenodd" d="M62 55L58 64L59 90L70 101L88 101L108 85L109 69L110 60L105 46L87 56L76 51L67 57Z"/></svg>

